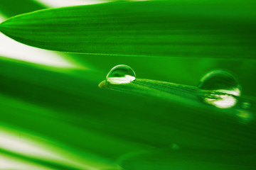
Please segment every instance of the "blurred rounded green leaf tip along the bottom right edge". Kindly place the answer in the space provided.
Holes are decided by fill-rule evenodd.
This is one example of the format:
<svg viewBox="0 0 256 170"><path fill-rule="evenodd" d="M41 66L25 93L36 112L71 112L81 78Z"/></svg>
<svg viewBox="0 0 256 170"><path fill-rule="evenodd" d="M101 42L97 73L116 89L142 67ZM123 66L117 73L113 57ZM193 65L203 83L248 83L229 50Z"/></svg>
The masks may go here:
<svg viewBox="0 0 256 170"><path fill-rule="evenodd" d="M255 152L195 149L159 149L122 157L119 162L126 170L255 169Z"/></svg>

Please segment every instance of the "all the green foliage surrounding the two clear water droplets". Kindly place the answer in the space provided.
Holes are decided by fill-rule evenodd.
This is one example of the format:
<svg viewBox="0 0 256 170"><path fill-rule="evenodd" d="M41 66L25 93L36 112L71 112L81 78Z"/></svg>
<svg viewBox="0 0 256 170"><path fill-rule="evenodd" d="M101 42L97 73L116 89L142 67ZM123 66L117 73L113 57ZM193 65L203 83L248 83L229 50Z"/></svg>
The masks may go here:
<svg viewBox="0 0 256 170"><path fill-rule="evenodd" d="M10 2L0 1L11 17L2 33L93 55L65 53L87 69L0 57L0 160L36 166L22 169L255 169L255 1L123 1L42 11L34 1L24 8ZM117 64L138 78L102 81ZM204 102L208 92L197 87L217 68L242 85L231 108Z"/></svg>

